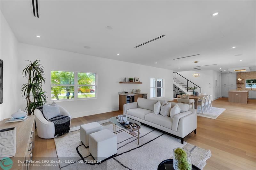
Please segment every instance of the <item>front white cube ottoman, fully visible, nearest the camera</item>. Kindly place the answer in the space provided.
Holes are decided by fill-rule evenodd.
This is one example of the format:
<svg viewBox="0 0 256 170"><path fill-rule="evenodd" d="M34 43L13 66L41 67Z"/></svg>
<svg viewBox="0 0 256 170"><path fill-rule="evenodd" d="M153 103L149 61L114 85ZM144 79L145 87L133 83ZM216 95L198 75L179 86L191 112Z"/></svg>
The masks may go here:
<svg viewBox="0 0 256 170"><path fill-rule="evenodd" d="M102 161L117 151L117 137L108 129L101 130L89 135L89 151L95 160Z"/></svg>

